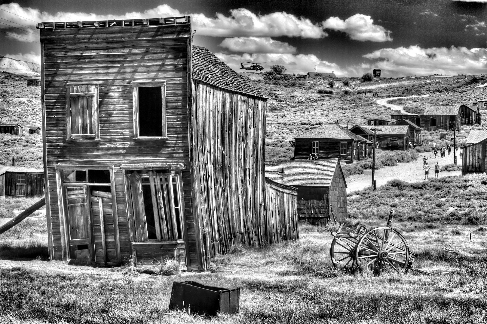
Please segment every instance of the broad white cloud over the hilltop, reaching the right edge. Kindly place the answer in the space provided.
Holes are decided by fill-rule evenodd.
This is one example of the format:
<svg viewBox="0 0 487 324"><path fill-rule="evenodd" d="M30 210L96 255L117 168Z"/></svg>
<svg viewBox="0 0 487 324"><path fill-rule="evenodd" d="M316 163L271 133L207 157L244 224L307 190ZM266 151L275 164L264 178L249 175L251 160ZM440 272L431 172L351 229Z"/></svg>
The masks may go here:
<svg viewBox="0 0 487 324"><path fill-rule="evenodd" d="M374 60L389 75L486 74L487 49L466 47L434 47L417 45L387 48L363 55ZM372 66L372 65L371 65Z"/></svg>

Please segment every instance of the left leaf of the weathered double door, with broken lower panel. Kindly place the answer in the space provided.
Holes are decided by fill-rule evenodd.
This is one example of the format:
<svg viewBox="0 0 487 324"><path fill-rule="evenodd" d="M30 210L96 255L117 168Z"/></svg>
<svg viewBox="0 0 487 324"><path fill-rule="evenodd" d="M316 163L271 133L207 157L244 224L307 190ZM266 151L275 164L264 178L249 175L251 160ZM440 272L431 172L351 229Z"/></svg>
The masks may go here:
<svg viewBox="0 0 487 324"><path fill-rule="evenodd" d="M82 264L91 263L93 259L88 196L88 186L65 188L70 258Z"/></svg>

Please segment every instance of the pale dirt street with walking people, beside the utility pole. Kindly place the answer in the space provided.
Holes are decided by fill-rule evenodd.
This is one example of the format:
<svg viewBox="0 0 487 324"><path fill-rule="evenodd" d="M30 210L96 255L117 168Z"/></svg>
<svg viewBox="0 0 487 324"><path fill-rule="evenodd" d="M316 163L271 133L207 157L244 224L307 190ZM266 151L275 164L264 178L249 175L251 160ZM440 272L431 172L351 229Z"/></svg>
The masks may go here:
<svg viewBox="0 0 487 324"><path fill-rule="evenodd" d="M461 163L462 159L460 156L458 156L458 153L460 153L460 150L457 151L457 163ZM395 167L383 167L382 169L375 170L377 187L385 185L388 181L393 179L400 179L407 182L425 181L423 171L423 155L428 157L428 163L431 166L429 174L430 178L434 177L434 165L436 162L438 162L440 166L453 163L453 152L451 152L450 155L447 153L444 158L440 158L440 153L438 152L436 159L434 158L434 154L431 152L419 153L419 158L417 161L409 163L397 163L397 166ZM461 174L461 171L442 171L440 172L439 177L459 176ZM364 170L363 174L352 175L351 177L347 178L346 181L348 187L347 192L367 188L372 184L372 170Z"/></svg>

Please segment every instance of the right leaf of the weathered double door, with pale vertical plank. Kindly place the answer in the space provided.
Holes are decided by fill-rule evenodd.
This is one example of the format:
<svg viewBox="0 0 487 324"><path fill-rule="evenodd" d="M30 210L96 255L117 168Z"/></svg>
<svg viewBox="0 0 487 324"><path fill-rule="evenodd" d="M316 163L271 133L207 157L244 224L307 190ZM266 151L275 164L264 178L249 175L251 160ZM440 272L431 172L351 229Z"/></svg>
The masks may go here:
<svg viewBox="0 0 487 324"><path fill-rule="evenodd" d="M91 193L93 261L97 264L108 265L116 262L112 203L110 192L93 190Z"/></svg>

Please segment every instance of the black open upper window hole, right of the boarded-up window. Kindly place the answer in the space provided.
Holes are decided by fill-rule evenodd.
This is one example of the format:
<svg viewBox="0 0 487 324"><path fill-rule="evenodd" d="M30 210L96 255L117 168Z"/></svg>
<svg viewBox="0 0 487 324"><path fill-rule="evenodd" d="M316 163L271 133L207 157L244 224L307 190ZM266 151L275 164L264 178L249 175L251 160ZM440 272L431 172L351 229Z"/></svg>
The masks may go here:
<svg viewBox="0 0 487 324"><path fill-rule="evenodd" d="M139 136L162 136L162 88L139 87Z"/></svg>

